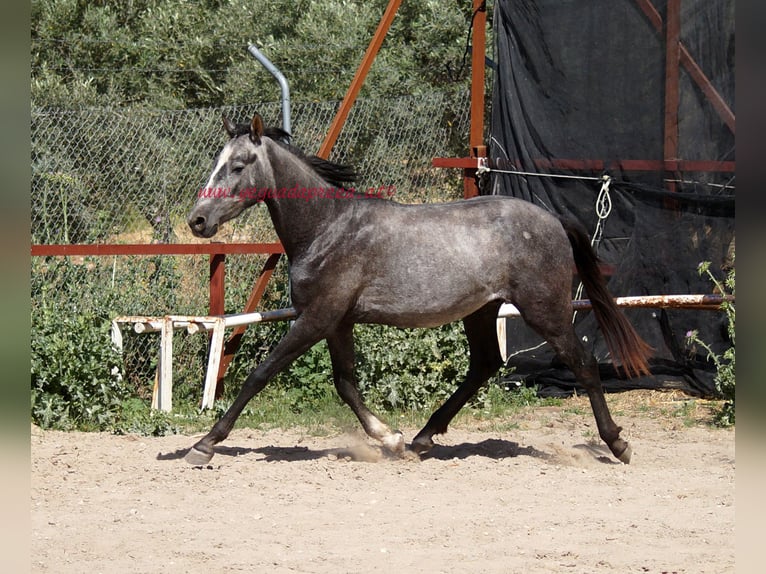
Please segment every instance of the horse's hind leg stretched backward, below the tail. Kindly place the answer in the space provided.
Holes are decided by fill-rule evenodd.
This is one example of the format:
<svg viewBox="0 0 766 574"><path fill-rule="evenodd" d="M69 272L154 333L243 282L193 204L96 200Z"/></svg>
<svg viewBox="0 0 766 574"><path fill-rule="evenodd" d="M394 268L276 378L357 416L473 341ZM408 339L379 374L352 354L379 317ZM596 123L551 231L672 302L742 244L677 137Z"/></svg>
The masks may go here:
<svg viewBox="0 0 766 574"><path fill-rule="evenodd" d="M626 464L629 463L632 450L630 445L620 438L622 428L617 426L609 413L598 374L598 362L577 338L572 325L569 298L556 305L534 303L518 306L524 321L550 343L558 357L588 393L601 439L615 457Z"/></svg>

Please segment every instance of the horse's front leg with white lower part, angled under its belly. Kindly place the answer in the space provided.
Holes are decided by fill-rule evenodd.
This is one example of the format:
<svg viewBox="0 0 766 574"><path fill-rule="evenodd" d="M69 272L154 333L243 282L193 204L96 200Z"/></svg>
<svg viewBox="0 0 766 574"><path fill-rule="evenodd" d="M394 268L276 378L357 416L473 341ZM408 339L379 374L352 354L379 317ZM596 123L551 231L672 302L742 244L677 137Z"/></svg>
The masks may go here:
<svg viewBox="0 0 766 574"><path fill-rule="evenodd" d="M353 324L344 323L327 337L327 347L330 350L335 388L340 397L354 411L364 431L372 438L379 440L389 451L401 454L404 452L404 437L402 433L392 431L362 401L362 396L359 393L354 376L353 329Z"/></svg>

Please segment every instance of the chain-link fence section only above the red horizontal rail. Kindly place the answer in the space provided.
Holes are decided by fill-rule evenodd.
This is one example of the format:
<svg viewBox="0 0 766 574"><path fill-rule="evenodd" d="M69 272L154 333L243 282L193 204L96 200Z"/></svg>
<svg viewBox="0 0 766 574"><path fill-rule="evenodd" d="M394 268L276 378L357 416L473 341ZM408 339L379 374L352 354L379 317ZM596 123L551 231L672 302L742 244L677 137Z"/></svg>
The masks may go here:
<svg viewBox="0 0 766 574"><path fill-rule="evenodd" d="M293 143L315 152L337 107L293 104ZM393 185L405 203L457 198L459 176L432 168L431 159L465 153L468 109L467 92L359 100L330 159L357 168L357 187ZM194 241L184 219L225 141L221 115L249 121L256 111L268 125L281 125L279 103L33 110L32 242ZM250 210L226 239L273 241L265 217L265 210Z"/></svg>

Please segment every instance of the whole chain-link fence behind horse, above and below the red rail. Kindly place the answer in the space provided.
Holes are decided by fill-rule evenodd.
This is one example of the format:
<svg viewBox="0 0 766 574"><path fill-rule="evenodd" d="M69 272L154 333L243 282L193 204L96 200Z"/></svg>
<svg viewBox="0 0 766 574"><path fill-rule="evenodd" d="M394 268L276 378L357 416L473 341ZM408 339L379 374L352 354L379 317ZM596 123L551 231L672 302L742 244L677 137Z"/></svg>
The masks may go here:
<svg viewBox="0 0 766 574"><path fill-rule="evenodd" d="M339 102L293 103L293 143L319 149ZM470 94L431 93L357 100L330 159L353 165L357 189L393 186L397 201L423 203L462 197L462 174L433 168L434 157L465 155ZM281 125L280 103L191 110L34 109L31 115L31 229L35 244L198 243L185 222L225 142L221 115L249 121L260 113ZM254 206L216 236L226 242L277 241L265 208ZM283 258L284 259L284 258ZM226 312L240 312L265 261L226 259ZM206 256L35 257L32 260L32 338L56 329L56 317L205 314ZM286 263L267 288L263 309L289 304ZM250 328L229 373L254 361L281 338L286 325ZM61 333L77 337L77 333ZM108 335L105 335L108 336ZM125 375L139 396L154 377L158 335L125 340ZM174 381L204 377L207 339L174 338ZM242 357L245 359L240 362Z"/></svg>

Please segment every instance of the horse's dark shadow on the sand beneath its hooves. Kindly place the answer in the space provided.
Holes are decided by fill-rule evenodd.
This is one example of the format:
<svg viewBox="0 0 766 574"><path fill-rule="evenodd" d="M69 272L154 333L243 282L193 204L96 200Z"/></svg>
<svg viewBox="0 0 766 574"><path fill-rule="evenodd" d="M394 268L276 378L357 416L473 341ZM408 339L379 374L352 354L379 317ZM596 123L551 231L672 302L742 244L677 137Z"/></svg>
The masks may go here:
<svg viewBox="0 0 766 574"><path fill-rule="evenodd" d="M157 454L157 460L178 460L186 456L189 449L178 449L173 452ZM328 457L335 457L344 460L353 460L359 462L374 462L383 459L407 458L414 460L454 460L467 459L474 456L500 460L505 458L516 458L518 456L529 456L549 460L553 455L536 449L533 446L521 446L517 442L486 439L478 443L461 443L456 445L434 445L434 447L420 456L408 449L405 456L398 457L388 454L379 446L364 445L363 447L342 447L310 449L305 446L262 446L257 448L238 447L238 446L216 446L217 456L244 456L244 455L262 455L265 462L299 462L319 460Z"/></svg>

